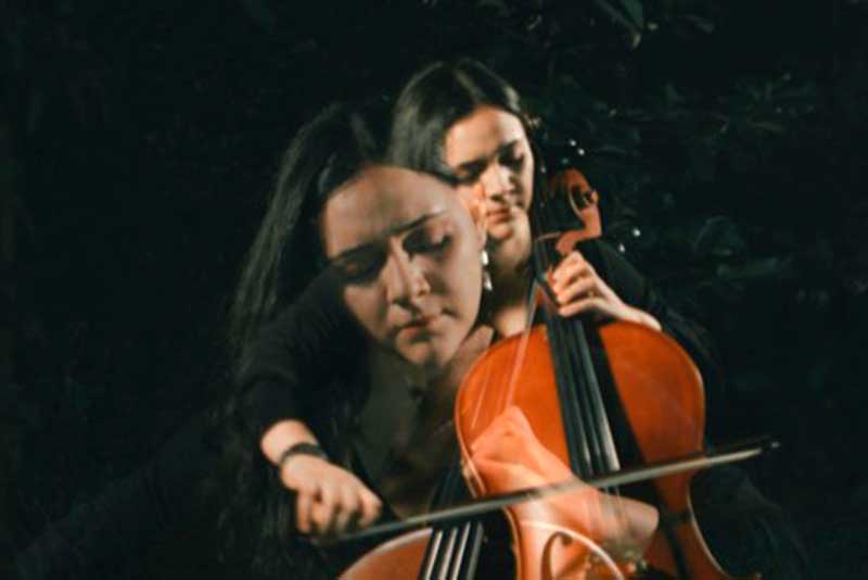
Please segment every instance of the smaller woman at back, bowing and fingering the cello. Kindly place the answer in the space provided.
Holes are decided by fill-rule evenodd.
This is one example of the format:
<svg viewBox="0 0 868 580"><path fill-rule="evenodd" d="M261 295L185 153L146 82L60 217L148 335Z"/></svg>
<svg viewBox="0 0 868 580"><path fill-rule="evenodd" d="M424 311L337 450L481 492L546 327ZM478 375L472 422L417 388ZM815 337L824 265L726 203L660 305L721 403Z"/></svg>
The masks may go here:
<svg viewBox="0 0 868 580"><path fill-rule="evenodd" d="M401 91L391 142L393 156L401 164L451 174L458 179L459 190L483 188L494 286L488 324L501 336L522 330L527 319L532 243L528 212L535 190L542 187L542 175L518 93L473 61L432 65L414 75ZM549 279L562 315L590 312L652 328L662 326L700 364L709 361L701 331L668 310L644 279L607 244L584 244ZM248 381L256 383L254 401L279 399L281 395L273 394L278 392L309 392L301 387L309 377L297 380L298 368L304 365L293 366L293 357L285 356L292 348L281 348L291 342L285 333L281 338L280 329L260 338L260 351L272 353L250 366ZM261 364L263 361L267 362ZM298 388L280 388L286 377L295 380ZM265 394L269 392L272 394ZM317 481L322 483L309 486L309 475L328 468L327 458L291 454L286 461L286 449L299 442L316 443L316 438L303 421L282 418L280 408L280 404L270 405L259 414L264 433L260 446L278 466L283 484L298 492L298 504L320 506L298 514L299 528L334 531L353 518L363 518L360 505L367 489L360 482L335 477L334 487L328 483L329 478L319 478ZM701 518L715 522L709 527L711 539L725 565L737 571L763 570L767 577L793 578L801 573L801 554L779 512L740 471L718 470L700 478L697 488L697 509ZM339 489L340 493L334 491ZM738 502L741 509L727 509L732 502ZM751 541L736 546L727 541L730 535Z"/></svg>

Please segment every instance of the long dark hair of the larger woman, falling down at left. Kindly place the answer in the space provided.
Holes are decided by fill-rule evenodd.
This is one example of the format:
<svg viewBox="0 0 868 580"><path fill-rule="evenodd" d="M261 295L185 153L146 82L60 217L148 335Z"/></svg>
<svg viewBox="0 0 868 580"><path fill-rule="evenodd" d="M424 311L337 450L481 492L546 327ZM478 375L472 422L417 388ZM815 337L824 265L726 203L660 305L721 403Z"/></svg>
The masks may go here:
<svg viewBox="0 0 868 580"><path fill-rule="evenodd" d="M256 338L311 281L321 259L318 217L333 191L366 166L384 162L387 123L378 104L332 104L286 148L259 230L247 252L229 320L235 392L220 411L222 469L210 489L224 503L222 554L256 578L312 578L323 563L297 541L291 496L258 450L242 377Z"/></svg>

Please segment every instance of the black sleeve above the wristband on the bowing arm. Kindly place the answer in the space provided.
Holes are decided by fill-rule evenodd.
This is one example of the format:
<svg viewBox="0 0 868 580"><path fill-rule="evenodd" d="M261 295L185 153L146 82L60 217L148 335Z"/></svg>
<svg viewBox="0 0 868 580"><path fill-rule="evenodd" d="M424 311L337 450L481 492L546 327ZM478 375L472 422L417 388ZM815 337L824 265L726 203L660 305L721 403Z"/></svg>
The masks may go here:
<svg viewBox="0 0 868 580"><path fill-rule="evenodd" d="M320 274L261 330L246 356L240 381L251 429L263 433L278 420L309 417L318 386L346 368L361 343L335 276Z"/></svg>

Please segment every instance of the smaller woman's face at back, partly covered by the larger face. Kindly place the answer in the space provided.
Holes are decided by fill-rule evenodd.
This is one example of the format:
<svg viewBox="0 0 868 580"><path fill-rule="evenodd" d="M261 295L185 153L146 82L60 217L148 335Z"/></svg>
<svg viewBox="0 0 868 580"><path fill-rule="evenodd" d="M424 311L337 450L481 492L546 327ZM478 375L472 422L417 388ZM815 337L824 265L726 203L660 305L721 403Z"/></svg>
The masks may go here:
<svg viewBox="0 0 868 580"><path fill-rule="evenodd" d="M495 244L529 236L527 210L534 194L534 157L521 121L502 109L477 106L446 131L446 164L459 189L482 184L488 236Z"/></svg>

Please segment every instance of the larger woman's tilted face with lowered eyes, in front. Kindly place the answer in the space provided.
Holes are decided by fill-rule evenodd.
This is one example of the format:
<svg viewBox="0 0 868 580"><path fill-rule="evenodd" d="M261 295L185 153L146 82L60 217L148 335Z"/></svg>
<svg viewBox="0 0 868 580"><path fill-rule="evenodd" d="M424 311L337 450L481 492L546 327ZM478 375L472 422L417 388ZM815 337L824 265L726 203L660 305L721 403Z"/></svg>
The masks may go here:
<svg viewBox="0 0 868 580"><path fill-rule="evenodd" d="M368 167L326 203L321 235L347 307L374 342L443 368L482 294L484 234L455 189L408 169Z"/></svg>

